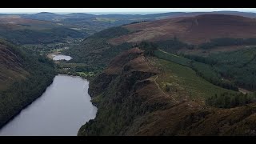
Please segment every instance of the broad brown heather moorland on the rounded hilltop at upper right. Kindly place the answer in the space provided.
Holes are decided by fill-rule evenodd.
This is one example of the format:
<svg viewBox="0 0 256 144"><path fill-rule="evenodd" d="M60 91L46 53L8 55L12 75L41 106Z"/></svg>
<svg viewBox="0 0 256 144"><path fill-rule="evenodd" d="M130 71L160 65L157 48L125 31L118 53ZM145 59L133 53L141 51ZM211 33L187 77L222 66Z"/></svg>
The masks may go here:
<svg viewBox="0 0 256 144"><path fill-rule="evenodd" d="M197 45L211 38L256 38L256 19L225 14L168 18L123 27L134 33L112 38L109 40L110 43L154 42L176 37L182 42Z"/></svg>

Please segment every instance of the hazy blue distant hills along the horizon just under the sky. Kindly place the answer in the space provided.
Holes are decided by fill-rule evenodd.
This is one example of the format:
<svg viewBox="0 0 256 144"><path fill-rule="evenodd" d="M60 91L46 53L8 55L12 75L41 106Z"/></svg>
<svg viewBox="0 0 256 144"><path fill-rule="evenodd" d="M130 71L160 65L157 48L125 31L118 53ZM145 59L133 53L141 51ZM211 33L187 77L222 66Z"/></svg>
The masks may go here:
<svg viewBox="0 0 256 144"><path fill-rule="evenodd" d="M86 33L94 34L100 30L112 26L122 26L131 22L154 21L165 18L194 17L201 14L230 14L247 18L256 18L254 13L238 11L214 11L214 12L170 12L162 14L54 14L42 12L38 14L3 14L0 18L28 18L42 21L50 21L69 26Z"/></svg>

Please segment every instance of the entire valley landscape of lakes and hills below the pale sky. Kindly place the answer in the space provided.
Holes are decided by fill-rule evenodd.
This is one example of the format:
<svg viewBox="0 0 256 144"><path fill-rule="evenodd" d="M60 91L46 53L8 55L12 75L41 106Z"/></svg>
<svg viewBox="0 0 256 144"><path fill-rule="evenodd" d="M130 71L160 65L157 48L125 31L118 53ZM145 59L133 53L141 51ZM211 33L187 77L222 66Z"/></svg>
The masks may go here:
<svg viewBox="0 0 256 144"><path fill-rule="evenodd" d="M2 14L0 135L255 136L255 18Z"/></svg>

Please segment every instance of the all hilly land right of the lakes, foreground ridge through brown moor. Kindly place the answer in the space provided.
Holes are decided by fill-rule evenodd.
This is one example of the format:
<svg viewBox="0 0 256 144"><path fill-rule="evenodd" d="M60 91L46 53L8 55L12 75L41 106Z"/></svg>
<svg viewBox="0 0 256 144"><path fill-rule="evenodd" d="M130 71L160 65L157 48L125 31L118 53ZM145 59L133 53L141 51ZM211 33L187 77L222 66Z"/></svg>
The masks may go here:
<svg viewBox="0 0 256 144"><path fill-rule="evenodd" d="M105 70L90 82L98 114L78 135L255 135L255 89L238 91L254 88L255 24L254 18L202 14L85 38L64 53L70 62ZM203 57L178 53L233 45L241 48Z"/></svg>

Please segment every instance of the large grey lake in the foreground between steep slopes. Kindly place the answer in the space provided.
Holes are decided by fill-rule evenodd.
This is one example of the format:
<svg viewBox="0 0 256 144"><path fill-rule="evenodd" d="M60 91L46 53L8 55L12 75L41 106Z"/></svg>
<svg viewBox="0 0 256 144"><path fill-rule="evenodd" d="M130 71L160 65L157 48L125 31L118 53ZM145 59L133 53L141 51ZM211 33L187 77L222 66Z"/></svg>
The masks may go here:
<svg viewBox="0 0 256 144"><path fill-rule="evenodd" d="M89 82L80 77L56 76L40 98L2 127L0 135L77 135L79 128L97 113L88 87Z"/></svg>

